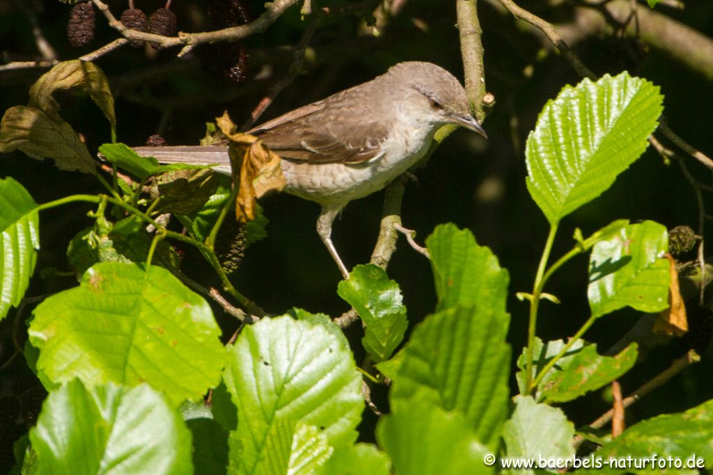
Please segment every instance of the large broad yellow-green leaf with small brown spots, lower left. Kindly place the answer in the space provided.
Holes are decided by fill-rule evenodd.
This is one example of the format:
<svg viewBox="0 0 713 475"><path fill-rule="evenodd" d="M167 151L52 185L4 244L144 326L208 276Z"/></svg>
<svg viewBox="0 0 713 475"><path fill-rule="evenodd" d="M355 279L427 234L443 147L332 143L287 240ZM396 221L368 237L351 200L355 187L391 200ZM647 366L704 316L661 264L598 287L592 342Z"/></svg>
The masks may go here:
<svg viewBox="0 0 713 475"><path fill-rule="evenodd" d="M158 266L98 263L34 315L37 369L53 382L148 382L178 404L215 387L227 357L210 306Z"/></svg>

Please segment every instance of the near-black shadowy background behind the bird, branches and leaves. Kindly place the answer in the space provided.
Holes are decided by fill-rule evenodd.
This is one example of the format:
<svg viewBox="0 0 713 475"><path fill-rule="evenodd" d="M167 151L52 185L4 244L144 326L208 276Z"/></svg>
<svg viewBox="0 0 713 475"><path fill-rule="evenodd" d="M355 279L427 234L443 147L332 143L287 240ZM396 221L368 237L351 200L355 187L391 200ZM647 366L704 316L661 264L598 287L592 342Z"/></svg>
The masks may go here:
<svg viewBox="0 0 713 475"><path fill-rule="evenodd" d="M125 8L120 1L108 3L116 16ZM313 8L327 3L334 6L345 2L314 2ZM570 19L571 7L576 4L521 3L559 23ZM117 37L116 31L97 14L93 43L72 48L66 41L70 6L49 0L28 4L36 9L43 33L61 59L76 58ZM247 4L254 17L263 11L262 0ZM262 120L369 80L400 61L432 61L462 78L454 4L455 1L411 0L379 37L364 34L363 21L356 14L330 16L310 42L305 73L277 97ZM493 250L501 266L508 268L513 296L508 306L512 314L510 339L516 357L525 342L528 306L517 301L514 293L531 290L548 231L547 221L525 189L523 146L545 102L554 98L563 85L577 83L578 78L560 55L543 48L546 43L527 28L520 28L511 16L501 14L491 2L479 4L486 84L496 97L496 105L484 123L490 139L486 141L465 131L451 135L426 168L416 172L418 182L407 184L402 218L404 226L417 231L416 239L421 243L437 224L452 221L461 228L467 227L480 244ZM0 49L6 61L36 56L31 26L19 5L20 2L0 1ZM136 0L136 5L150 12L163 6L163 2ZM648 7L640 4L640 8ZM202 1L176 1L172 9L178 16L180 30L211 29ZM708 36L713 35L711 2L689 1L684 11L665 8L660 11ZM204 135L205 122L221 115L223 110L236 123L242 122L270 86L284 77L292 58L289 46L299 41L306 26L307 21L300 19L296 6L265 33L247 38L250 68L242 86L216 83L202 73L195 58L175 58L176 49L150 51L124 47L99 58L96 63L108 75L116 95L118 140L143 145L149 135L158 132L171 145L191 145ZM632 75L660 85L671 127L700 150L709 154L713 150L710 79L682 66L665 51L650 48L637 38L620 38L615 32L583 38L575 45L575 51L597 74L627 69ZM0 110L26 103L29 86L45 71L41 68L0 71ZM86 137L90 150L95 151L98 145L110 141L108 122L91 100L66 94L61 104L63 117ZM710 182L708 169L689 157L686 160L698 179ZM92 177L61 172L19 153L0 156L0 177L7 176L24 184L37 202L73 193L103 192ZM705 199L709 202L708 197ZM379 229L382 202L381 193L352 202L335 224L334 242L348 267L369 260ZM314 231L317 205L287 195L267 197L262 205L270 219L267 228L270 236L247 251L234 276L235 286L271 313L283 313L293 306L332 316L347 310L347 304L336 293L339 271ZM89 209L73 204L41 214L38 269L53 266L68 270L66 246L74 234L91 224L86 217ZM627 218L652 219L669 228L687 224L696 229L697 216L693 190L677 164L667 165L657 153L648 150L600 199L563 221L553 257L570 249L575 227L580 227L587 236L614 219ZM189 252L187 273L197 281L210 282L210 268L193 257ZM566 338L588 318L587 262L584 256L575 259L548 284L546 291L558 296L562 304L542 304L540 338ZM72 277L42 280L38 274L28 296L76 285ZM429 262L410 249L403 238L389 265L389 276L401 286L412 323L431 313L436 298ZM19 319L13 311L0 322L0 364L14 353L14 332L19 343L24 343L25 325L21 319L29 317L29 310L26 308ZM237 326L235 321L217 309L216 314L225 333L230 335ZM600 350L605 350L638 318L630 310L607 315L588 332L586 339L599 343ZM358 329L352 328L348 333L354 343L358 342ZM654 350L645 362L622 378L625 394L664 370L684 350L679 340ZM708 400L713 395L711 369L709 358L704 357L702 364L690 367L654 395L635 404L630 410L631 422L682 411ZM39 382L27 370L21 355L0 373L3 398L0 404L4 412L0 423L5 424L3 449L33 422L42 397L38 387ZM567 404L565 412L575 424L586 424L604 412L607 404L602 392L595 392Z"/></svg>

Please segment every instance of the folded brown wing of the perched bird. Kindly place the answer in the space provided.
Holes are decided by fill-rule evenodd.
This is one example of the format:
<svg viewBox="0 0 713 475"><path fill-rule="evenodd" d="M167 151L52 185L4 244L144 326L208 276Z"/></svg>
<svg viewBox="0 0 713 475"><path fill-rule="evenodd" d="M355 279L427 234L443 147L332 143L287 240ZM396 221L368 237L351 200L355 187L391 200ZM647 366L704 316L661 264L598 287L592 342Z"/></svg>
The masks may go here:
<svg viewBox="0 0 713 475"><path fill-rule="evenodd" d="M265 122L248 133L259 137L270 150L288 160L314 163L361 163L383 155L387 124L369 120L363 105L322 100Z"/></svg>

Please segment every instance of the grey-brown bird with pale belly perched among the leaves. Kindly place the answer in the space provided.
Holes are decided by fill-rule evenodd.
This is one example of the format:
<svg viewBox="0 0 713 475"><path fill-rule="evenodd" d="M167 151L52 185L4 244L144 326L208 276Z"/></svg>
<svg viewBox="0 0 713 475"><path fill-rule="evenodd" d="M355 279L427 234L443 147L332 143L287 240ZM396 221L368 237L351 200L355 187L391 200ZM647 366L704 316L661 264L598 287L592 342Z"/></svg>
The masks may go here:
<svg viewBox="0 0 713 475"><path fill-rule="evenodd" d="M397 63L342 90L248 130L282 158L283 191L322 207L317 233L345 279L332 225L354 199L384 188L426 155L436 131L454 124L487 138L466 90L433 63ZM159 162L213 165L230 174L226 145L134 147ZM214 165L215 164L215 165Z"/></svg>

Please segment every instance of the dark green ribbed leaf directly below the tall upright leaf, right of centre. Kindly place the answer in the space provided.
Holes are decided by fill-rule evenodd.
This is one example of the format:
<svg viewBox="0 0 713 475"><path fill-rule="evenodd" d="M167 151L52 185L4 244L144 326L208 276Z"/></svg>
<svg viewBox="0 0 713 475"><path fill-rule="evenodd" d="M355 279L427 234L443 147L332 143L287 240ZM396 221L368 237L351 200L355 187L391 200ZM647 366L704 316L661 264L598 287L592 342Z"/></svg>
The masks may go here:
<svg viewBox="0 0 713 475"><path fill-rule="evenodd" d="M489 301L429 315L414 329L393 380L391 401L421 400L463 413L478 440L494 448L508 415L507 315Z"/></svg>

